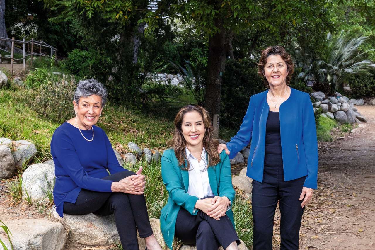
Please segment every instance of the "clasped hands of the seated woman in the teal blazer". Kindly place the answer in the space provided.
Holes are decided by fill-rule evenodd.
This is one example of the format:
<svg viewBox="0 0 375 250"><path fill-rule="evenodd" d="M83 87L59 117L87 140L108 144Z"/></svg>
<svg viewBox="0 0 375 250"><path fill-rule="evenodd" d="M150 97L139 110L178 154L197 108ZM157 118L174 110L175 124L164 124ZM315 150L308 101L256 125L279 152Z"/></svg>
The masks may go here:
<svg viewBox="0 0 375 250"><path fill-rule="evenodd" d="M228 204L229 199L227 197L215 196L213 198L198 200L195 207L209 215L211 218L220 220L220 217L225 215Z"/></svg>

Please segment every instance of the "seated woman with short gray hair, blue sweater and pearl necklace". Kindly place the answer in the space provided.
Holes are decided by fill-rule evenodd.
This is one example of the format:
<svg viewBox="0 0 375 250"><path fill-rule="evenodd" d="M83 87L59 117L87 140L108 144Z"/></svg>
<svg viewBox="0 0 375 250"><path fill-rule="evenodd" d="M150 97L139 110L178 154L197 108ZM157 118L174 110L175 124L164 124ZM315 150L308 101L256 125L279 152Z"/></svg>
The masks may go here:
<svg viewBox="0 0 375 250"><path fill-rule="evenodd" d="M73 101L77 116L63 123L52 136L56 211L61 217L63 212L114 214L124 249L139 249L138 229L148 249L161 250L148 220L142 167L137 173L121 167L107 135L95 126L106 101L107 90L101 83L93 79L80 81Z"/></svg>

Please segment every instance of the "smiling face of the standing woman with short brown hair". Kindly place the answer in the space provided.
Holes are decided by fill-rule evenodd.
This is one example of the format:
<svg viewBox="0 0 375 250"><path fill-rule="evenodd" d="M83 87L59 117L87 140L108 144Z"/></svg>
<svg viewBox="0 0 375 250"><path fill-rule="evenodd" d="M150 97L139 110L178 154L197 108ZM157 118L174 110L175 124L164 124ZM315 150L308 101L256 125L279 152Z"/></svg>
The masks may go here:
<svg viewBox="0 0 375 250"><path fill-rule="evenodd" d="M287 69L287 64L280 55L271 55L267 57L267 63L264 65L264 76L270 86L280 86L286 84Z"/></svg>

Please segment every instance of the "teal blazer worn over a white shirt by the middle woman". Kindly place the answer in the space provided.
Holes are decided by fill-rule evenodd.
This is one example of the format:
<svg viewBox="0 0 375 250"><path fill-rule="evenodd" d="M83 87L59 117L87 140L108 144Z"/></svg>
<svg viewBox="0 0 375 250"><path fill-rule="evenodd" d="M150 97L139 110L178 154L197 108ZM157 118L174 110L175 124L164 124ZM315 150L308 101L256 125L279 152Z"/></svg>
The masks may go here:
<svg viewBox="0 0 375 250"><path fill-rule="evenodd" d="M164 241L172 249L174 239L174 229L176 219L180 208L184 208L192 215L198 213L194 209L198 200L196 196L190 196L187 193L189 188L189 172L182 170L178 164L173 148L166 150L162 157L162 178L168 191L168 202L161 210L160 229ZM186 161L186 160L185 160ZM233 204L235 191L232 185L231 164L225 151L220 154L220 162L215 166L208 167L208 180L211 190L215 196L226 196ZM231 209L226 211L226 216L232 221L234 226L233 212Z"/></svg>

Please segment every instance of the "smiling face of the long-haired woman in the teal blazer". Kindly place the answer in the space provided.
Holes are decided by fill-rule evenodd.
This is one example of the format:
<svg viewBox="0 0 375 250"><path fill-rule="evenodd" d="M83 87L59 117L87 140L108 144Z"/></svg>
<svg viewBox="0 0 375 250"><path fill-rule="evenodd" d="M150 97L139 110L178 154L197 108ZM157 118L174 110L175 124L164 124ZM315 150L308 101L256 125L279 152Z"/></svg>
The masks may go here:
<svg viewBox="0 0 375 250"><path fill-rule="evenodd" d="M189 147L195 146L203 147L205 127L201 114L197 111L185 113L182 119L181 129L188 149Z"/></svg>

